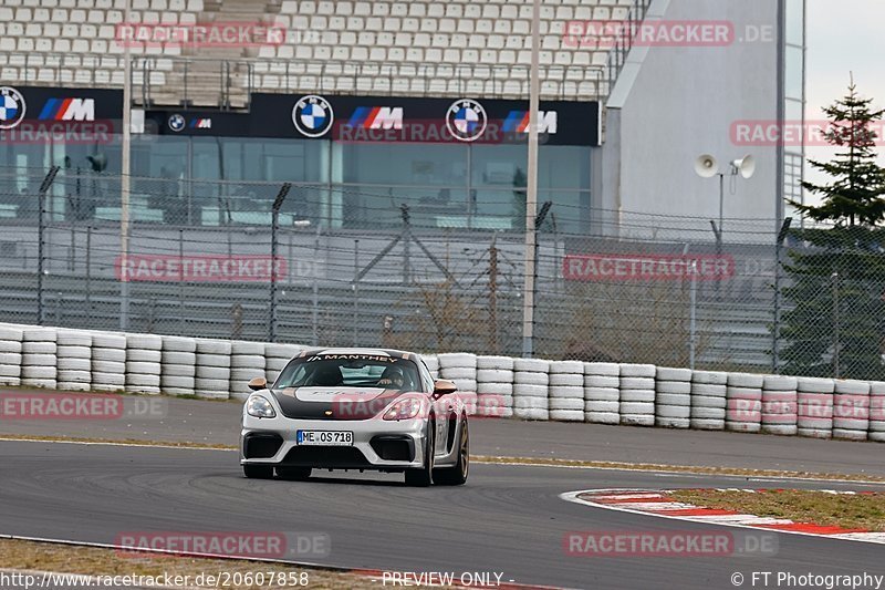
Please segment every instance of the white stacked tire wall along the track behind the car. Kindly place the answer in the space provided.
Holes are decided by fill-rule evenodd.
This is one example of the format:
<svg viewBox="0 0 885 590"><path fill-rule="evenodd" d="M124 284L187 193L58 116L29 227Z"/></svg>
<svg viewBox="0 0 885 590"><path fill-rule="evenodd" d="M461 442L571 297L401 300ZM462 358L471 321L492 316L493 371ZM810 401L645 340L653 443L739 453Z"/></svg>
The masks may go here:
<svg viewBox="0 0 885 590"><path fill-rule="evenodd" d="M298 344L0 324L0 385L246 398ZM652 364L423 355L485 417L885 442L885 382Z"/></svg>

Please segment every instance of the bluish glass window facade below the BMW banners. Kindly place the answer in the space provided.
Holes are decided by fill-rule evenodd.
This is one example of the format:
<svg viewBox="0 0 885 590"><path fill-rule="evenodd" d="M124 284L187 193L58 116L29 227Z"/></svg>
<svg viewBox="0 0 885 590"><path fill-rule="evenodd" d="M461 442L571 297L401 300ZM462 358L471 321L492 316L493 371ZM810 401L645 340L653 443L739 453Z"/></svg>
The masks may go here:
<svg viewBox="0 0 885 590"><path fill-rule="evenodd" d="M119 136L103 145L0 145L0 167L7 170L0 177L2 194L35 193L50 165L66 163L80 168L79 190L90 203L79 219L118 220L119 145ZM541 145L539 207L545 200L553 203L553 215L542 231L589 232L591 149ZM92 173L86 156L93 154L106 156L104 172ZM269 224L280 186L290 183L283 224L305 219L342 229L398 228L402 206L407 205L417 227L521 231L527 158L524 144L135 135L133 220ZM33 178L22 172L29 167ZM94 182L84 183L86 176ZM74 189L60 180L53 190L59 199L54 218L65 219L70 211L63 201Z"/></svg>

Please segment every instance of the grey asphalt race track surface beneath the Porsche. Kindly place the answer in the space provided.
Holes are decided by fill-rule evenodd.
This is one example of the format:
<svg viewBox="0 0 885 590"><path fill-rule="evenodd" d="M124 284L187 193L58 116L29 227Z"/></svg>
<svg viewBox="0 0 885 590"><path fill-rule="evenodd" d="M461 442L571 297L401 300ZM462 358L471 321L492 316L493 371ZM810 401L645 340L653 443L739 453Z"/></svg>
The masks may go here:
<svg viewBox="0 0 885 590"><path fill-rule="evenodd" d="M421 489L405 487L398 475L244 479L231 451L3 441L0 456L0 534L6 535L113 544L136 531L325 532L332 551L316 560L324 565L498 571L506 581L568 588L733 588L736 571L748 580L752 571L885 573L885 546L798 535L772 534L778 551L764 558L612 559L569 557L563 550L569 531L722 530L580 506L559 498L564 491L787 487L779 482L473 464L465 487Z"/></svg>

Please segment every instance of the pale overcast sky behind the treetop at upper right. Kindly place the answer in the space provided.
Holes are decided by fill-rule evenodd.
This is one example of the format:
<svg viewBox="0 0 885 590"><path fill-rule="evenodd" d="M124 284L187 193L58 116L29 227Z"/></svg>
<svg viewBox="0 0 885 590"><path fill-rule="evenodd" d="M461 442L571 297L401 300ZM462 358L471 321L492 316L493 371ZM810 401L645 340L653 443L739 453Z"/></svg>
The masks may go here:
<svg viewBox="0 0 885 590"><path fill-rule="evenodd" d="M806 117L821 120L821 107L842 97L854 72L857 91L885 107L885 0L808 0ZM833 149L808 147L814 159L830 159ZM885 147L879 147L885 166ZM820 175L806 168L806 178Z"/></svg>

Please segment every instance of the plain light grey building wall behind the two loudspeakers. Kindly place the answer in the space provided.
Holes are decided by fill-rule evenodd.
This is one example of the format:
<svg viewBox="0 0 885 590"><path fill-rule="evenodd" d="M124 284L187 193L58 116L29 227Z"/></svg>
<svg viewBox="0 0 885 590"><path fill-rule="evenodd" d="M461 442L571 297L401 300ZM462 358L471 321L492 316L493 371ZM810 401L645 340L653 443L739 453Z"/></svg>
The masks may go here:
<svg viewBox="0 0 885 590"><path fill-rule="evenodd" d="M758 241L762 237L754 237L754 229L770 236L777 149L735 145L731 126L777 118L777 1L654 0L647 19L730 21L735 41L728 46L632 50L607 104L606 137L597 155L602 169L594 207L604 210L603 225L610 227L605 221L611 218L625 237L648 235L635 226L680 226L686 231L669 234L683 235L655 236L712 240L709 220L719 217L718 178L698 177L694 161L712 154L727 172L731 159L752 154L757 169L751 179L738 178L731 194L732 183L726 178L725 217L772 220L771 227L732 221L725 227L725 240ZM753 40L759 35L763 39Z"/></svg>

